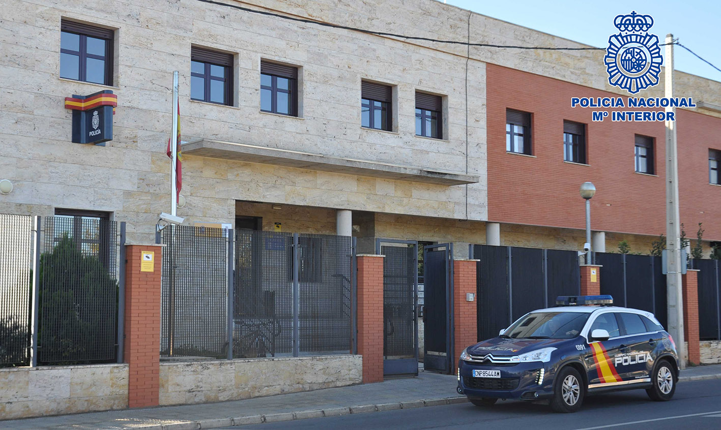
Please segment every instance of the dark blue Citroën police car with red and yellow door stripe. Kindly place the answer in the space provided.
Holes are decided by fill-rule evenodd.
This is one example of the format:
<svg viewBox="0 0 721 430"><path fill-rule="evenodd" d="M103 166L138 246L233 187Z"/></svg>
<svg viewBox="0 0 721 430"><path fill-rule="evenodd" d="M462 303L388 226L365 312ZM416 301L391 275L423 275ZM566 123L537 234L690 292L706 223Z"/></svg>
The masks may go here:
<svg viewBox="0 0 721 430"><path fill-rule="evenodd" d="M678 355L653 313L611 306L610 295L560 296L498 337L469 346L458 364L458 393L476 406L499 398L548 399L575 412L587 394L644 388L671 400ZM599 306L600 305L600 306Z"/></svg>

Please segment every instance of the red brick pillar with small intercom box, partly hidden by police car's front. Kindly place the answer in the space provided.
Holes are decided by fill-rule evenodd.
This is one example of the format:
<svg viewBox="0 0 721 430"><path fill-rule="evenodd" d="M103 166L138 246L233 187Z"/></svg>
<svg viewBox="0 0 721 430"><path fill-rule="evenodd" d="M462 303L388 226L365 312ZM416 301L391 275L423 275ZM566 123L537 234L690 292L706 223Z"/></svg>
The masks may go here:
<svg viewBox="0 0 721 430"><path fill-rule="evenodd" d="M477 285L476 267L478 260L456 260L453 266L454 282L454 362L456 372L458 359L467 346L478 341L477 326ZM473 295L473 300L466 300L466 293Z"/></svg>

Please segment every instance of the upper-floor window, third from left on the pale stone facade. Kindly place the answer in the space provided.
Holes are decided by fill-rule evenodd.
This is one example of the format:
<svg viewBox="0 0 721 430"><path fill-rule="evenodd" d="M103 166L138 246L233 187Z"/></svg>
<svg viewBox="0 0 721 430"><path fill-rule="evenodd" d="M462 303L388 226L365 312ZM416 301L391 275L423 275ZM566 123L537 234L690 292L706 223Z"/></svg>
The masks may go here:
<svg viewBox="0 0 721 430"><path fill-rule="evenodd" d="M260 110L298 116L298 68L260 62Z"/></svg>

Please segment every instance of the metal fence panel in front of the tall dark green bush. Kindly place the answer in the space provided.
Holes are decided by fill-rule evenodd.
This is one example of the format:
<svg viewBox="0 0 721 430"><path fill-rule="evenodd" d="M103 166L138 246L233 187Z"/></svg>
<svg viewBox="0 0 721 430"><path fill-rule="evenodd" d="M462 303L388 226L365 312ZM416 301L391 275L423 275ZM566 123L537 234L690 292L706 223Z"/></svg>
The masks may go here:
<svg viewBox="0 0 721 430"><path fill-rule="evenodd" d="M40 256L38 364L118 360L118 223L46 217Z"/></svg>

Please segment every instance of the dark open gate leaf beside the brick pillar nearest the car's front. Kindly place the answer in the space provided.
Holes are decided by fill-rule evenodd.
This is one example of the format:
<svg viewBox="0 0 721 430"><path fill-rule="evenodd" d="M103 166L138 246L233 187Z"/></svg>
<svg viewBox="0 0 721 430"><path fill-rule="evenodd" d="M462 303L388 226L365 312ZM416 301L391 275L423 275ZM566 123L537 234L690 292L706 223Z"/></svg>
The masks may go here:
<svg viewBox="0 0 721 430"><path fill-rule="evenodd" d="M423 367L453 372L453 244L423 247Z"/></svg>

